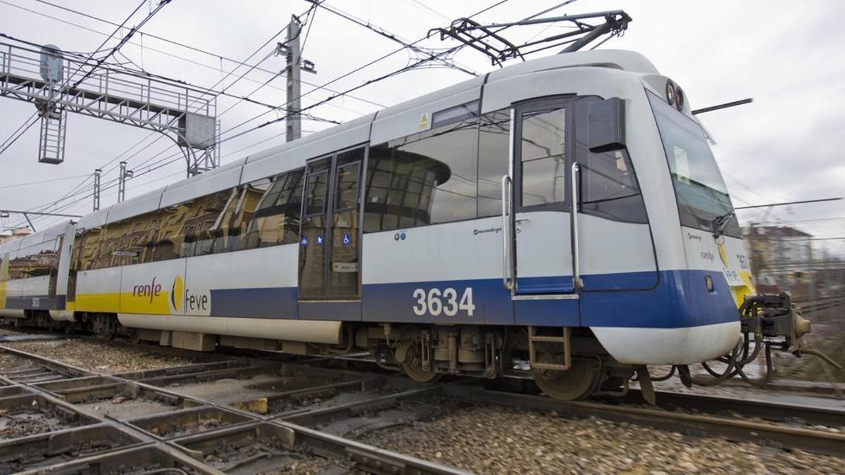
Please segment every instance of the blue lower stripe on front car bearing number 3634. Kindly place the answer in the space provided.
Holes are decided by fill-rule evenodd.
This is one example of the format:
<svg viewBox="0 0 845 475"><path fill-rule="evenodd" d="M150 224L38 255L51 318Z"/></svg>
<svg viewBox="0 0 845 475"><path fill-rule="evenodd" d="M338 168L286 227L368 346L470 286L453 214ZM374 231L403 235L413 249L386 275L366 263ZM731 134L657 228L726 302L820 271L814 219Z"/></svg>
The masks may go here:
<svg viewBox="0 0 845 475"><path fill-rule="evenodd" d="M714 290L707 292L705 276L711 276ZM211 291L211 314L228 317L278 319L347 319L353 321L452 323L487 325L576 325L619 326L637 328L679 328L711 325L739 319L728 282L721 272L702 270L669 270L626 274L584 276L586 287L614 289L630 287L631 282L653 288L638 291L581 292L578 300L519 300L512 302L510 293L499 279L466 281L401 282L363 286L361 317L345 312L346 318L335 316L337 303L307 303L308 311L300 314L297 290L293 287L258 289L224 289ZM548 281L547 279L544 279ZM532 279L521 279L530 284ZM461 300L466 288L472 287L470 302ZM428 293L436 288L441 293L439 314L428 308ZM450 302L455 290L454 303ZM422 289L425 312L419 301ZM347 303L355 305L357 303ZM449 312L444 311L444 306ZM449 315L455 310L454 315ZM579 314L580 309L580 314ZM354 315L354 316L353 316Z"/></svg>

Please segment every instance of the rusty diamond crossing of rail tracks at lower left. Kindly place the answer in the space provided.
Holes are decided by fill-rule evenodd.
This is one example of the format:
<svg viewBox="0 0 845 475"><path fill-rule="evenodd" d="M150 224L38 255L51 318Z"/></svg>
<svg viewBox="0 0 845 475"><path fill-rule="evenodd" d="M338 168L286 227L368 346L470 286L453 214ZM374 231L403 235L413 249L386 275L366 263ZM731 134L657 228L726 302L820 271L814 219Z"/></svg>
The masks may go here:
<svg viewBox="0 0 845 475"><path fill-rule="evenodd" d="M41 434L0 442L0 472L36 473L49 467L51 471L74 473L222 473L300 463L306 467L313 464L319 467L318 472L336 465L338 473L352 467L367 472L465 473L289 423L273 413L262 414L275 403L300 401L309 395L350 390L363 396L385 390L389 383L381 376L362 377L317 368L309 368L305 374L303 369L271 368L243 358L105 375L14 348L0 350L79 375L44 383L0 377L5 384L0 394L9 395L0 397L0 412L28 411L32 418L40 416L53 423L46 424L50 430ZM278 376L275 382L279 389L264 391L271 392L272 397L248 401L241 400L244 393L236 391L237 404L186 396L172 389L218 379L243 379L250 374ZM327 380L332 382L313 385ZM400 384L393 390L406 393L403 383L390 385ZM286 386L297 389L281 390ZM150 406L158 408L135 417L134 408ZM221 451L221 447L230 448L229 452ZM80 452L86 456L79 456Z"/></svg>

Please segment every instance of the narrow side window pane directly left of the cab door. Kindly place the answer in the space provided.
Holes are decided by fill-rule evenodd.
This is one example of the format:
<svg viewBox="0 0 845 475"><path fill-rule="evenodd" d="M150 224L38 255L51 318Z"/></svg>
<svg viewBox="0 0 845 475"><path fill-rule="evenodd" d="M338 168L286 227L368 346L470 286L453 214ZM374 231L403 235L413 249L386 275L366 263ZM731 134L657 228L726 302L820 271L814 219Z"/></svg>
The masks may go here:
<svg viewBox="0 0 845 475"><path fill-rule="evenodd" d="M510 161L510 108L482 115L478 127L478 217L502 213L502 176Z"/></svg>

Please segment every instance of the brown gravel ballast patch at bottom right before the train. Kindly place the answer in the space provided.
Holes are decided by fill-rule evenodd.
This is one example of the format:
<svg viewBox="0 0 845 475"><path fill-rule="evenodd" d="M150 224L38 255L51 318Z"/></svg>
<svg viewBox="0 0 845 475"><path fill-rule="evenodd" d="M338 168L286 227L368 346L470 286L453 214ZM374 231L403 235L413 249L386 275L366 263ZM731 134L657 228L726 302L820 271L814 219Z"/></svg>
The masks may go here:
<svg viewBox="0 0 845 475"><path fill-rule="evenodd" d="M361 440L480 473L845 472L832 456L505 407L463 408Z"/></svg>

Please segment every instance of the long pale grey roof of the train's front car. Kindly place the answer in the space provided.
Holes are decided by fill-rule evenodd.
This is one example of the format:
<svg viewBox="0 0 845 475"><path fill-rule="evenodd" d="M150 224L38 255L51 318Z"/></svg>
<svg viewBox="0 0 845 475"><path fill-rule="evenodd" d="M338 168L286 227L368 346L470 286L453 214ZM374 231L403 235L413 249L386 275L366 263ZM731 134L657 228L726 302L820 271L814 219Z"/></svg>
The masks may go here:
<svg viewBox="0 0 845 475"><path fill-rule="evenodd" d="M418 131L409 130L408 124L417 124L422 113L431 114L431 112L439 112L449 107L481 100L482 86L485 84L536 71L576 67L613 68L639 74L659 74L657 68L645 56L638 52L624 50L570 52L532 59L450 85L395 106L386 107L379 112L357 117L308 137L232 161L210 172L135 196L123 203L83 216L79 219L77 227L79 229L101 227L131 216L177 205L205 194L303 167L306 160L335 150L368 141L380 143L406 136ZM488 111L485 111L482 106L481 112Z"/></svg>

